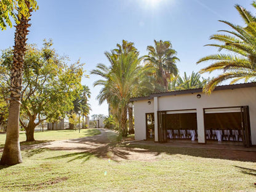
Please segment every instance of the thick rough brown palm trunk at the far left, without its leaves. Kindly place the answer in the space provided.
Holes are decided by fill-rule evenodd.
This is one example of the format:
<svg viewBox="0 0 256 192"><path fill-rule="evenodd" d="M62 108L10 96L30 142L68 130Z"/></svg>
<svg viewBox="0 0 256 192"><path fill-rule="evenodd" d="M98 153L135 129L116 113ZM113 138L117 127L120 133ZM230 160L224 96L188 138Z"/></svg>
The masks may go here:
<svg viewBox="0 0 256 192"><path fill-rule="evenodd" d="M29 2L26 1L28 7ZM30 10L31 12L31 10ZM22 162L19 143L20 92L22 90L22 71L26 50L26 35L28 34L29 18L19 18L15 26L14 63L10 75L10 106L7 122L6 143L2 153L1 164L14 165Z"/></svg>

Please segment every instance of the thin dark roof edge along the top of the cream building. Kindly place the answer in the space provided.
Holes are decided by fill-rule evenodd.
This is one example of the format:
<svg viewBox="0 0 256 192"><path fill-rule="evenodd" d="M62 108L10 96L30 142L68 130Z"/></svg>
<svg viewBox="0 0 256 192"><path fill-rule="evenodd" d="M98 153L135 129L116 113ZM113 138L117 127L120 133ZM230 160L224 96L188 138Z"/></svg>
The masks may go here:
<svg viewBox="0 0 256 192"><path fill-rule="evenodd" d="M246 87L256 87L256 82L249 82L249 83L241 83L241 84L231 84L225 86L217 86L215 87L214 91L216 90L226 90L226 89L239 89L239 88L246 88ZM132 97L130 98L130 102L138 101L138 100L148 100L154 97L161 97L161 96L169 96L169 95L182 95L182 94L194 94L202 92L202 88L198 89L186 89L186 90L174 90L169 92L161 92L161 93L154 93L150 94L147 97Z"/></svg>

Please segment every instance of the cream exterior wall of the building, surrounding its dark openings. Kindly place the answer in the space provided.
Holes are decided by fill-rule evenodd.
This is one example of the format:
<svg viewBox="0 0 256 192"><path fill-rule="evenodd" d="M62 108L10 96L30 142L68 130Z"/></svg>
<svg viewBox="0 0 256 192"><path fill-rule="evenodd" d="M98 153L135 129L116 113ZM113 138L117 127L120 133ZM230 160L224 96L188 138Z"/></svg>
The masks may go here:
<svg viewBox="0 0 256 192"><path fill-rule="evenodd" d="M201 94L201 98L197 98L197 94ZM154 113L153 100L151 99L151 105L148 105L147 102L148 100L134 102L135 140L146 139L145 113ZM158 97L159 111L196 109L199 143L204 143L205 141L204 108L245 105L249 106L252 145L256 145L256 87L217 90L212 92L211 95L196 93Z"/></svg>

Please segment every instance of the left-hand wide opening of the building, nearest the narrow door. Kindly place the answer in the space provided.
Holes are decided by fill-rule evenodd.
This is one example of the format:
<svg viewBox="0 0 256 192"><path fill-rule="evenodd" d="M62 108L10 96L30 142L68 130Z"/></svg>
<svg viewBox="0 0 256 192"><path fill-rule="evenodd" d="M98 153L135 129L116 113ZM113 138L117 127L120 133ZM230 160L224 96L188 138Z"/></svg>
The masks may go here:
<svg viewBox="0 0 256 192"><path fill-rule="evenodd" d="M196 110L159 111L158 123L159 142L198 139Z"/></svg>

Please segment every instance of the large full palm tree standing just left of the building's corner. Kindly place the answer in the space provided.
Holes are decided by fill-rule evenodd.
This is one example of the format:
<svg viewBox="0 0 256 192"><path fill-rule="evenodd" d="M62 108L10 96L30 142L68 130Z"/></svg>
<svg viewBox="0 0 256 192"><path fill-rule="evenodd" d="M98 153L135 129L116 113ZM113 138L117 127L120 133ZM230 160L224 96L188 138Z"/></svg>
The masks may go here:
<svg viewBox="0 0 256 192"><path fill-rule="evenodd" d="M147 74L152 69L150 66L142 67L142 58L138 52L105 52L111 66L98 64L92 74L97 74L103 79L94 82L94 86L103 86L98 95L101 104L107 101L111 111L119 116L119 130L127 136L127 105L129 99L152 89Z"/></svg>

